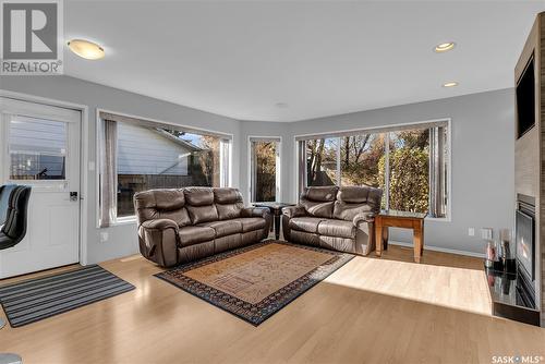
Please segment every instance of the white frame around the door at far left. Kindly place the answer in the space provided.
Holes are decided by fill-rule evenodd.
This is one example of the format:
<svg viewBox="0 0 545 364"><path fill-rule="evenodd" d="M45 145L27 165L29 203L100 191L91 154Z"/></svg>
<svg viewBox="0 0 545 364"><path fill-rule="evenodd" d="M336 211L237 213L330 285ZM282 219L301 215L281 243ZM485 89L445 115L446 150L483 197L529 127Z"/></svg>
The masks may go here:
<svg viewBox="0 0 545 364"><path fill-rule="evenodd" d="M77 110L82 113L82 128L80 129L80 264L87 265L87 213L88 213L88 155L89 155L89 131L88 131L88 106L66 102L57 99L39 97L0 89L0 96L13 98L26 102L44 104L60 108Z"/></svg>

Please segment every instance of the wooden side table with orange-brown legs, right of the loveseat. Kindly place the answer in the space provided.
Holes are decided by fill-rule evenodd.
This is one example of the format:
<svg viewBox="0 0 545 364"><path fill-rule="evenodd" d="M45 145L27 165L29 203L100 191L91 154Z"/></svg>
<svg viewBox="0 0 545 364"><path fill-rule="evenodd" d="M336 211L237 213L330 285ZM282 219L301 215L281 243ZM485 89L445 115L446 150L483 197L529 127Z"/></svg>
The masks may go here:
<svg viewBox="0 0 545 364"><path fill-rule="evenodd" d="M413 230L414 262L420 263L424 253L424 218L427 214L380 211L375 217L376 256L383 254L383 248L388 247L388 228L404 228Z"/></svg>

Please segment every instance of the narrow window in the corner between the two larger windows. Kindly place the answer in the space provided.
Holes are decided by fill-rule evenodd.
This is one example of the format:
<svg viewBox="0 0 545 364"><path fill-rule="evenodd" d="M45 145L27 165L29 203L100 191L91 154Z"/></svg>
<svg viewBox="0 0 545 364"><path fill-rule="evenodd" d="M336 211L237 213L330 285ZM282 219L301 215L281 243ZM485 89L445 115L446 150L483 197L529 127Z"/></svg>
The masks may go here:
<svg viewBox="0 0 545 364"><path fill-rule="evenodd" d="M251 137L252 202L276 202L279 197L280 138Z"/></svg>

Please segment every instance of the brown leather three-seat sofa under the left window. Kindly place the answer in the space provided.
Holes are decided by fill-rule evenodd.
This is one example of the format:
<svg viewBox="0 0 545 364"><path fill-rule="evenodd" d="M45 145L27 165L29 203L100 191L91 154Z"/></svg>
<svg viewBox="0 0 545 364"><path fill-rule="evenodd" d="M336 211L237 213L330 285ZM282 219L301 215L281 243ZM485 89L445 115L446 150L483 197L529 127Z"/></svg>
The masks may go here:
<svg viewBox="0 0 545 364"><path fill-rule="evenodd" d="M268 209L244 208L237 189L152 190L134 195L140 251L164 267L267 238Z"/></svg>

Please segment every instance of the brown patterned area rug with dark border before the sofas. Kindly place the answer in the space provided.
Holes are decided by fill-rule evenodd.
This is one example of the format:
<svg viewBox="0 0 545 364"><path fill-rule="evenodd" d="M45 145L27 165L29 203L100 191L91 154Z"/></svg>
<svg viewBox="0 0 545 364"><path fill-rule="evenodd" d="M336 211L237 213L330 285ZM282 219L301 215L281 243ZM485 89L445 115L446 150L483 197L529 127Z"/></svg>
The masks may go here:
<svg viewBox="0 0 545 364"><path fill-rule="evenodd" d="M271 240L155 276L257 326L352 258Z"/></svg>

